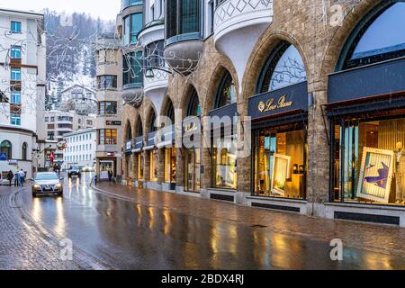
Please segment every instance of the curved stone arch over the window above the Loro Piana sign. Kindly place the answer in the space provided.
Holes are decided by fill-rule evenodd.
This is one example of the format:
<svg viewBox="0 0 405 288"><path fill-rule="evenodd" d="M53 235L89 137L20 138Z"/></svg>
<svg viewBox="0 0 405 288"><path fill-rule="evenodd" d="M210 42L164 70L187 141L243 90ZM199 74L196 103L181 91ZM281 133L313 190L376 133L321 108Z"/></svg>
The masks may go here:
<svg viewBox="0 0 405 288"><path fill-rule="evenodd" d="M261 36L261 40L257 41L257 46L251 53L247 62L247 68L242 81L242 101L245 104L245 109L247 109L248 98L256 94L257 79L260 76L267 58L269 57L270 53L277 47L277 45L282 41L289 42L296 49L298 49L305 66L305 70L307 72L308 81L311 82L312 71L309 69L308 57L300 41L296 40L291 34L285 31L272 31L272 29L270 28Z"/></svg>

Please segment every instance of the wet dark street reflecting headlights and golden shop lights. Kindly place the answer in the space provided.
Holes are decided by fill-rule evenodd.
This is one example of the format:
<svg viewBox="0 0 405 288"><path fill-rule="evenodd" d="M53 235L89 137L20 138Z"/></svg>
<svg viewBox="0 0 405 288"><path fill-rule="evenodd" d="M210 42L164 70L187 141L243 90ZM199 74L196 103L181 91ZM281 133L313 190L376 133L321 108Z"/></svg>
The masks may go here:
<svg viewBox="0 0 405 288"><path fill-rule="evenodd" d="M405 269L403 255L358 247L344 247L343 261L332 261L329 241L184 212L168 193L148 192L148 202L96 193L91 176L65 178L63 198L32 199L26 188L18 199L34 220L116 269ZM185 198L184 205L202 201Z"/></svg>

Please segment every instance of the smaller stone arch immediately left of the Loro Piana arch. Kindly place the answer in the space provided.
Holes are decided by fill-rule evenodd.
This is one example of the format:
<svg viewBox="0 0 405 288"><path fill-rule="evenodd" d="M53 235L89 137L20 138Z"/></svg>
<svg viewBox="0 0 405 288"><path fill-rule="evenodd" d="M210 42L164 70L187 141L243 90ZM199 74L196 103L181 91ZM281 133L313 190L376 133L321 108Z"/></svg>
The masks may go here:
<svg viewBox="0 0 405 288"><path fill-rule="evenodd" d="M235 84L236 94L237 94L237 98L239 101L240 94L239 94L238 76L236 74L235 68L231 67L230 65L220 63L213 70L213 73L212 73L212 76L210 79L210 84L208 85L207 94L205 97L205 105L204 105L203 114L208 114L208 112L210 112L212 109L214 109L215 97L218 93L218 89L220 87L222 78L226 75L227 72L230 74L230 76L232 77L232 80Z"/></svg>

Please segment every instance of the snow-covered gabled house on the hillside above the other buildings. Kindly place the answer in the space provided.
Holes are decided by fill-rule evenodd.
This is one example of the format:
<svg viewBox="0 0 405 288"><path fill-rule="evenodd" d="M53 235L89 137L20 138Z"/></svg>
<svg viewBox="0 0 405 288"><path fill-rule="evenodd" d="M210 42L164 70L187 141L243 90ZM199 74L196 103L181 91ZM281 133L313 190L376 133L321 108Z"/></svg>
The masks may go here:
<svg viewBox="0 0 405 288"><path fill-rule="evenodd" d="M95 93L92 88L84 85L71 85L62 91L61 107L62 109L67 108L67 110L74 109L82 115L95 113L97 109Z"/></svg>

